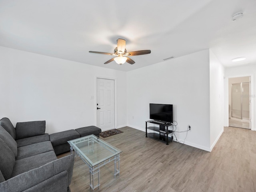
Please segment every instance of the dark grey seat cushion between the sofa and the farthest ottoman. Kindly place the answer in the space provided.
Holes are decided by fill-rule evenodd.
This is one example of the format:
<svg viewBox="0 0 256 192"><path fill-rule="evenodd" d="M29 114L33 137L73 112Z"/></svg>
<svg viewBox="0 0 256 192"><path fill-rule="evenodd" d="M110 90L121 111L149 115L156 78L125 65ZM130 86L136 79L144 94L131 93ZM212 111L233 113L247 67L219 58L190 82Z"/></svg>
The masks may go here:
<svg viewBox="0 0 256 192"><path fill-rule="evenodd" d="M80 134L74 129L50 134L52 146L66 144L69 140L79 138Z"/></svg>

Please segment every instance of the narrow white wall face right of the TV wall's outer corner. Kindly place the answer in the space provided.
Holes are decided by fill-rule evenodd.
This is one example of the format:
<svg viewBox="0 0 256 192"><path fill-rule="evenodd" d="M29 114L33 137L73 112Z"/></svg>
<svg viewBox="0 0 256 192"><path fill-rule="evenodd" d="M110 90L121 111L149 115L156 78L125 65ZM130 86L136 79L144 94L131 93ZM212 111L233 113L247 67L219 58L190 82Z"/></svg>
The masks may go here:
<svg viewBox="0 0 256 192"><path fill-rule="evenodd" d="M220 138L224 115L224 67L210 50L210 146Z"/></svg>

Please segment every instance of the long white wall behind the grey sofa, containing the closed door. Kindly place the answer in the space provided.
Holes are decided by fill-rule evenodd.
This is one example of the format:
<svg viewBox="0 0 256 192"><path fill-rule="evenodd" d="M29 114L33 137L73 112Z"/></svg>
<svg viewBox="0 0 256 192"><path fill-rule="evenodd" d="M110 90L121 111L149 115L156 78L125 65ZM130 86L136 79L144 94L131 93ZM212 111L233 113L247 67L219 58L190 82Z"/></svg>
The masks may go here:
<svg viewBox="0 0 256 192"><path fill-rule="evenodd" d="M0 118L14 126L46 120L51 134L96 125L96 76L117 80L117 127L127 124L126 72L5 47L0 53Z"/></svg>

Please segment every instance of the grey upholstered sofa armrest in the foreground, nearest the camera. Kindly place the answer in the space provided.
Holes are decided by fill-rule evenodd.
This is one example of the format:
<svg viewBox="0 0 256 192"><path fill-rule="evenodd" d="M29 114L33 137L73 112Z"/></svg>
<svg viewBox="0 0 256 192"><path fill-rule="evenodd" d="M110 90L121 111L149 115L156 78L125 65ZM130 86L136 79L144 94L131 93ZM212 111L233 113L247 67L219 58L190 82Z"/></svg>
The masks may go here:
<svg viewBox="0 0 256 192"><path fill-rule="evenodd" d="M24 190L43 188L44 186L56 187L56 191L63 191L71 183L74 167L74 154L49 162L39 168L19 174L0 183L4 192L22 192ZM67 173L67 176L66 176ZM62 180L63 186L57 180ZM63 181L65 181L63 183ZM56 184L54 184L56 182ZM66 188L68 190L68 188ZM40 191L40 190L39 190Z"/></svg>

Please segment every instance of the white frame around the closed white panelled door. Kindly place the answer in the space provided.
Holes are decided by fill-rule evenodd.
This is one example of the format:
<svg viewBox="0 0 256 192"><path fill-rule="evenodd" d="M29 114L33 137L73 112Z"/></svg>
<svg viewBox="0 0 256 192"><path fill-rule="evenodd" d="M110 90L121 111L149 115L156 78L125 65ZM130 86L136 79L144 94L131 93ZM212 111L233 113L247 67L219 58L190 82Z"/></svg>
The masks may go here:
<svg viewBox="0 0 256 192"><path fill-rule="evenodd" d="M117 94L116 94L116 82L117 79L116 78L110 78L110 77L103 77L103 76L95 76L95 125L97 126L97 79L108 79L108 80L114 80L114 128L117 128L117 115L116 115L116 111L117 111Z"/></svg>

